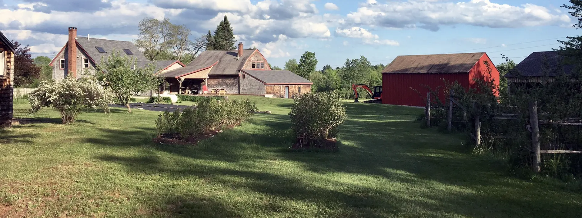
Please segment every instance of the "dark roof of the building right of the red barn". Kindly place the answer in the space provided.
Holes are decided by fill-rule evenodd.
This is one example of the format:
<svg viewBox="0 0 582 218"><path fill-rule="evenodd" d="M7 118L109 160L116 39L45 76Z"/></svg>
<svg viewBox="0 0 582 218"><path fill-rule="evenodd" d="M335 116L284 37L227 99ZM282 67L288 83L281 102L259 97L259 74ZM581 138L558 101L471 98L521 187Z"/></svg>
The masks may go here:
<svg viewBox="0 0 582 218"><path fill-rule="evenodd" d="M571 73L574 69L572 65L562 64L563 71L559 69L563 60L564 57L559 54L559 51L533 52L505 77L542 77L556 76L560 72Z"/></svg>

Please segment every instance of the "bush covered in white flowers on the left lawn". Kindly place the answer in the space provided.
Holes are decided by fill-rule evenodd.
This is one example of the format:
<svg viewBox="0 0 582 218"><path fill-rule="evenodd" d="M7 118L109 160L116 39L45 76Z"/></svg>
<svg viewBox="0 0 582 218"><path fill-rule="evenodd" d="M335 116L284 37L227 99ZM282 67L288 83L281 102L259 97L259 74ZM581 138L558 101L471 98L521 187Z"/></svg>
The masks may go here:
<svg viewBox="0 0 582 218"><path fill-rule="evenodd" d="M101 88L97 81L90 78L79 80L66 77L63 80L42 81L36 90L29 94L31 111L51 107L61 112L63 124L72 124L81 111L87 108L103 108L109 114L113 95Z"/></svg>

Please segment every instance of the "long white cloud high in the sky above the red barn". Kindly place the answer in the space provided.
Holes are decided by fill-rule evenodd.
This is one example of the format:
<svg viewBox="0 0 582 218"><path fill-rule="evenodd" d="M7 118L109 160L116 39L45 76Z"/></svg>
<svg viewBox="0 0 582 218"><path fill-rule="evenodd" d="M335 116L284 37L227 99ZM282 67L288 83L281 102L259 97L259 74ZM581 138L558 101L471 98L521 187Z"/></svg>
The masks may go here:
<svg viewBox="0 0 582 218"><path fill-rule="evenodd" d="M372 0L373 1L373 0ZM368 1L370 3L371 1ZM353 26L371 25L407 28L411 25L437 31L442 25L469 24L484 27L519 28L569 23L570 16L543 6L526 3L521 6L492 3L489 0L469 2L390 1L385 4L362 5L346 16Z"/></svg>

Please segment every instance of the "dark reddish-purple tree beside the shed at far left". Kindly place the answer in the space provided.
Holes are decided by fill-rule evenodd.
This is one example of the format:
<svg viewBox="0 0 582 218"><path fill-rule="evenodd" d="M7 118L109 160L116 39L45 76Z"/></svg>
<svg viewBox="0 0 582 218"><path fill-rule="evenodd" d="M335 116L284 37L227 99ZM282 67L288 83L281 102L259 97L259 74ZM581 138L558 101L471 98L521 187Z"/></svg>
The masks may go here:
<svg viewBox="0 0 582 218"><path fill-rule="evenodd" d="M41 67L34 64L31 59L29 45L22 47L17 41L12 41L16 49L14 54L14 85L16 87L34 87L40 76Z"/></svg>

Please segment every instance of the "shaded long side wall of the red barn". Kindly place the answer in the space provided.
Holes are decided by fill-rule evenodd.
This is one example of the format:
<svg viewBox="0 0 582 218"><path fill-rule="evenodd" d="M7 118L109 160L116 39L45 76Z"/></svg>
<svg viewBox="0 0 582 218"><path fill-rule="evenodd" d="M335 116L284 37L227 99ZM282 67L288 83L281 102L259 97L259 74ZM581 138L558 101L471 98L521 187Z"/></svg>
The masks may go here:
<svg viewBox="0 0 582 218"><path fill-rule="evenodd" d="M433 91L437 91L438 88L439 99L444 103L446 98L443 91L445 87L443 79L448 83L458 81L464 87L469 87L467 73L383 73L382 103L425 106L424 99L430 91L425 86L430 87Z"/></svg>

